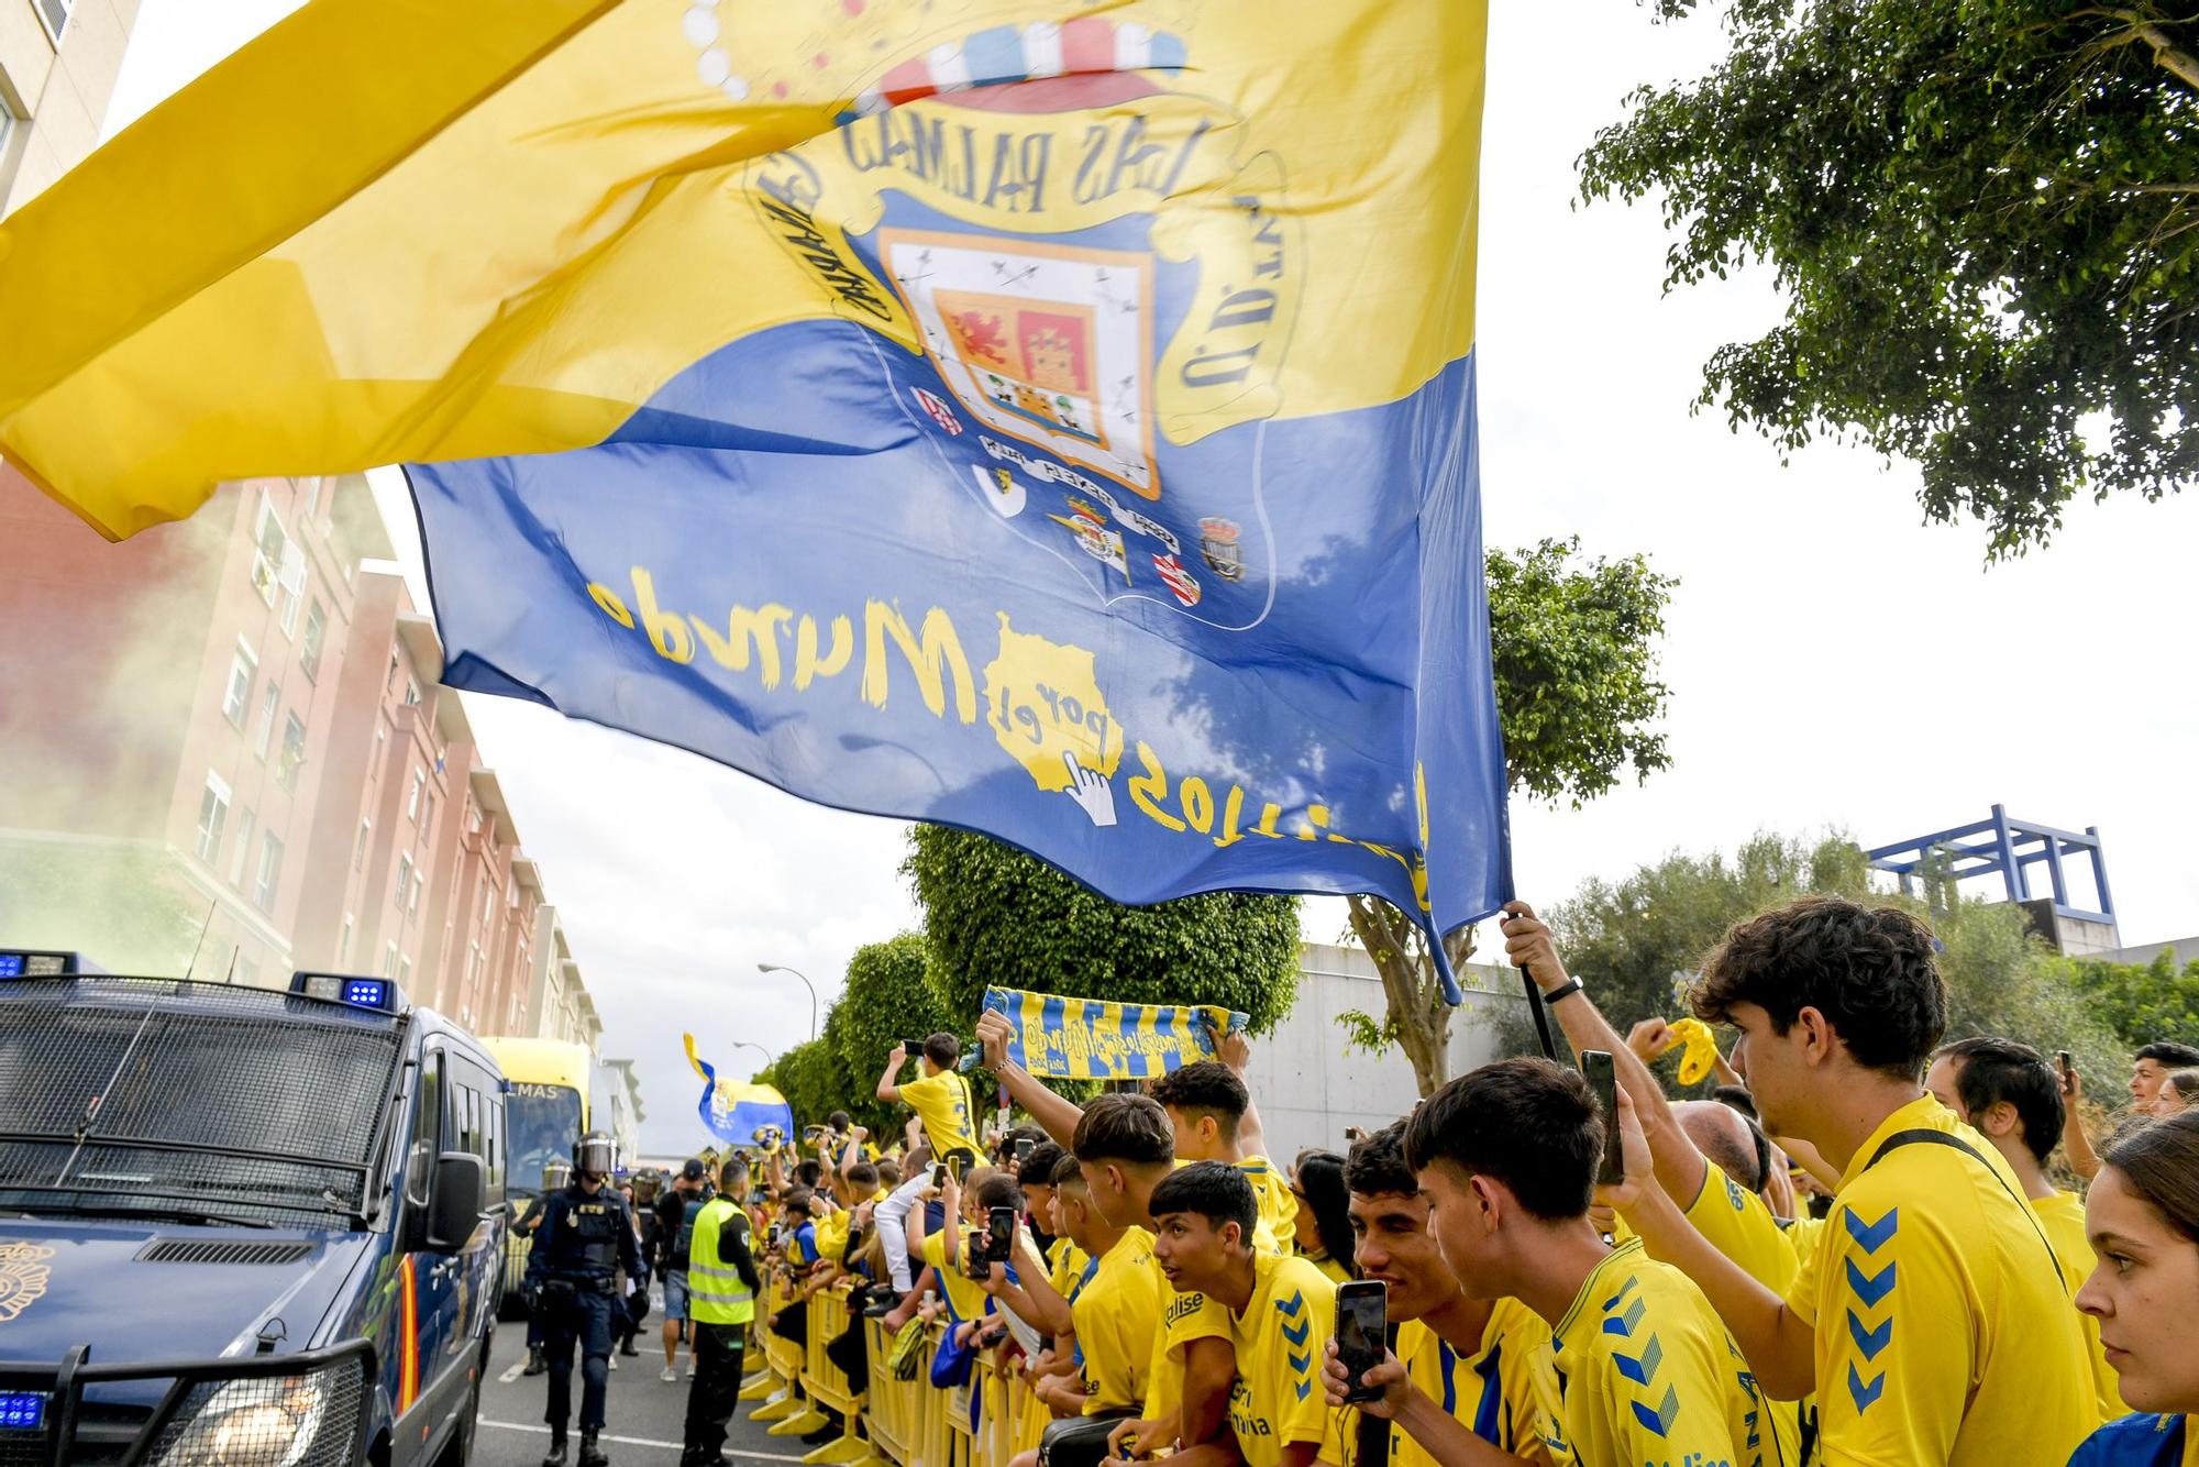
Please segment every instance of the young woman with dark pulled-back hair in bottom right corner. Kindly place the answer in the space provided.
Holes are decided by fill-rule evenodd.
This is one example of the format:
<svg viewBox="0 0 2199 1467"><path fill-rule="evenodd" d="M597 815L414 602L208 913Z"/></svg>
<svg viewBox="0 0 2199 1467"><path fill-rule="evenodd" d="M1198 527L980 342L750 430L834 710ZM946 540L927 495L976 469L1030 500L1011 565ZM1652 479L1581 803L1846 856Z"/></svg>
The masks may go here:
<svg viewBox="0 0 2199 1467"><path fill-rule="evenodd" d="M2140 1414L2093 1432L2069 1467L2199 1463L2199 1111L2144 1126L2107 1152L2085 1199L2100 1262L2076 1306L2100 1322L2107 1364Z"/></svg>

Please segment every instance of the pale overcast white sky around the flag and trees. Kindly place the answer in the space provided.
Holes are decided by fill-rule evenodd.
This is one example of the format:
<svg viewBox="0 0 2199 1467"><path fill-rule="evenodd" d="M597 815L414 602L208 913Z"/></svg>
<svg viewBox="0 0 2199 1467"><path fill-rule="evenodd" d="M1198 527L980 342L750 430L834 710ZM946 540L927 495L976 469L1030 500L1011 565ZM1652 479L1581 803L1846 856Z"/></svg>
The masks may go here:
<svg viewBox="0 0 2199 1467"><path fill-rule="evenodd" d="M288 9L143 0L110 132ZM1882 845L1999 801L2100 827L2124 941L2199 935L2199 497L2078 506L2052 548L1986 567L1983 530L1922 523L1909 464L1825 444L1781 466L1722 416L1691 416L1711 350L1777 319L1766 273L1662 299L1656 211L1574 207L1572 163L1627 88L1704 70L1720 35L1623 0L1588 9L1552 31L1541 7L1493 4L1487 532L1579 534L1680 576L1673 768L1583 812L1515 805L1522 893L1555 902L1759 829ZM402 482L378 479L424 605ZM466 706L605 1016L603 1054L638 1060L651 1152L701 1141L682 1029L741 1073L754 1051L732 1040L776 1054L809 1034L807 992L759 961L807 972L829 1005L851 950L915 924L895 820L530 704ZM1341 902L1308 902L1308 937L1341 928Z"/></svg>

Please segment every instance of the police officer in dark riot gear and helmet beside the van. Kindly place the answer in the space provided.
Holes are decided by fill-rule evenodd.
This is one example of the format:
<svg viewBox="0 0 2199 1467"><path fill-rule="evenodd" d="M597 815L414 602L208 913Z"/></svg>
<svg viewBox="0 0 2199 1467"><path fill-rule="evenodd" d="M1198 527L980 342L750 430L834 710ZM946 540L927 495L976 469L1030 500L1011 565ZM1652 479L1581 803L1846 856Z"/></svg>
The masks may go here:
<svg viewBox="0 0 2199 1467"><path fill-rule="evenodd" d="M572 1416L572 1346L581 1346L581 1463L603 1467L603 1392L611 1379L611 1320L625 1309L618 1271L647 1287L649 1265L633 1234L627 1199L611 1188L618 1146L589 1130L572 1148L572 1185L543 1199L534 1251L528 1254L528 1311L543 1320L550 1357L550 1454L543 1467L565 1467L565 1423Z"/></svg>

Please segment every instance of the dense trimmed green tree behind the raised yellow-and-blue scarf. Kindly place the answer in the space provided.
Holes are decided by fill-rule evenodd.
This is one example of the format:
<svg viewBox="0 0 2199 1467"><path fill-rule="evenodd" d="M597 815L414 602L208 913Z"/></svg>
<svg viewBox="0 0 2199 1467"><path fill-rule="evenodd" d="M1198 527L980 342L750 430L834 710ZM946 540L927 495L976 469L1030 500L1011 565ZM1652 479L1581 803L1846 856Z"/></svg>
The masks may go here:
<svg viewBox="0 0 2199 1467"><path fill-rule="evenodd" d="M1124 1003L1218 1003L1273 1029L1297 996L1297 902L1218 891L1108 902L987 836L915 825L908 860L930 983L970 1034L987 985Z"/></svg>

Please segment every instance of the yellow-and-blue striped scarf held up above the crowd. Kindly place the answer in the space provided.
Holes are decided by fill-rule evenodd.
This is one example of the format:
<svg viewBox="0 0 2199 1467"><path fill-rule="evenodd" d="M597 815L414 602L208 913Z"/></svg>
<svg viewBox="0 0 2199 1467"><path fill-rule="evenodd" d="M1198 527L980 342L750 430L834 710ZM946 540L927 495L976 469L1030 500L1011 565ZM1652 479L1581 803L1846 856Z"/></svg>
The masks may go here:
<svg viewBox="0 0 2199 1467"><path fill-rule="evenodd" d="M1049 1080L1165 1076L1212 1060L1214 1036L1247 1023L1212 1003L1115 1003L1018 988L987 988L983 1007L1007 1021L1007 1060Z"/></svg>

